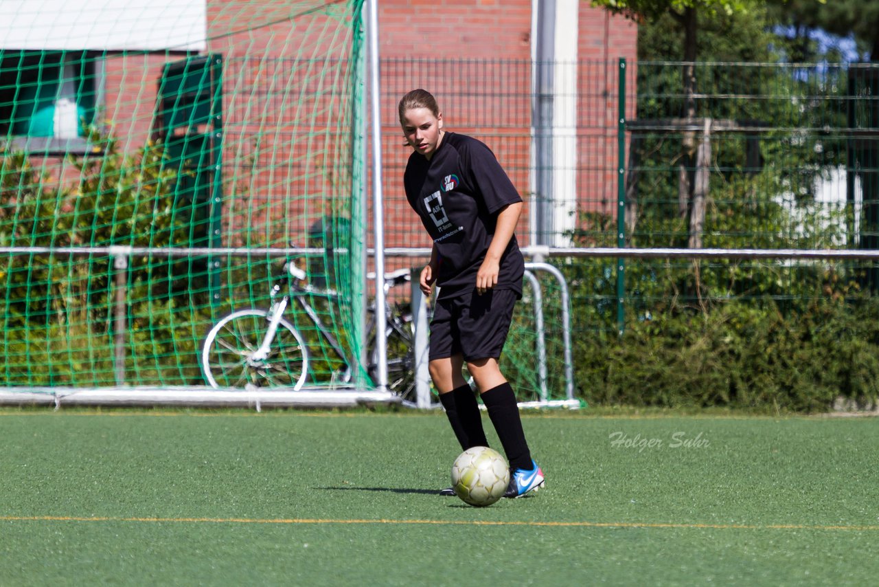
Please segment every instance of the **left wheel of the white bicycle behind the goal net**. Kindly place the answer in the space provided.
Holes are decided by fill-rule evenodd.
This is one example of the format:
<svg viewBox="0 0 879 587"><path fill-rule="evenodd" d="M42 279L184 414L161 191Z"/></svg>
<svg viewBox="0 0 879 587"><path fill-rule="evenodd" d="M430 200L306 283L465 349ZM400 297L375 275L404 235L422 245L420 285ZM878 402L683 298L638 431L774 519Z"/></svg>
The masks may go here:
<svg viewBox="0 0 879 587"><path fill-rule="evenodd" d="M252 359L265 339L269 317L266 310L239 310L211 328L201 348L201 371L208 385L301 388L309 372L309 352L286 319L280 319L268 356Z"/></svg>

